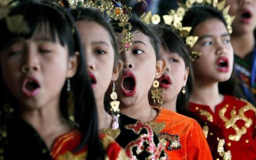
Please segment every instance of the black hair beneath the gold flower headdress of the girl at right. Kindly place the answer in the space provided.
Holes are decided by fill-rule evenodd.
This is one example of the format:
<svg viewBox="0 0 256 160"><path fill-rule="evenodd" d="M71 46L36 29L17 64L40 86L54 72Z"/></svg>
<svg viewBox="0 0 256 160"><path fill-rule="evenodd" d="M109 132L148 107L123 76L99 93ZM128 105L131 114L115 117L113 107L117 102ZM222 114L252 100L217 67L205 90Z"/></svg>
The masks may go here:
<svg viewBox="0 0 256 160"><path fill-rule="evenodd" d="M222 12L218 11L216 8L204 5L195 5L190 8L182 19L182 26L192 27L190 35L193 35L195 28L199 24L212 18L221 20L227 28Z"/></svg>

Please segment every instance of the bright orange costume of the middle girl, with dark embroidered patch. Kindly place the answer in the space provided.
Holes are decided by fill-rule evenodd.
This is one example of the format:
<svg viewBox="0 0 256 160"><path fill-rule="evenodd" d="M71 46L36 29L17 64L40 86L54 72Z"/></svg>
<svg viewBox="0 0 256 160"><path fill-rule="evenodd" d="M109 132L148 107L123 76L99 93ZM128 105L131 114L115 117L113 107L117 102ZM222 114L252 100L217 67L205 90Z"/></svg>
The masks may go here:
<svg viewBox="0 0 256 160"><path fill-rule="evenodd" d="M165 144L169 159L212 159L204 133L195 120L161 108L148 123Z"/></svg>

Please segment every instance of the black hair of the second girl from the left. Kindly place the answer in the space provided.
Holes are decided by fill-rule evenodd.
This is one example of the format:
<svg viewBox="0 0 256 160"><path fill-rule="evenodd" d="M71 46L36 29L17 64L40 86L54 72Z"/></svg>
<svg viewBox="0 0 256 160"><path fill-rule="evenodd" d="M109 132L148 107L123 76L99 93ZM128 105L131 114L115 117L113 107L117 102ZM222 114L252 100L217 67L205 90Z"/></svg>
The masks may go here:
<svg viewBox="0 0 256 160"><path fill-rule="evenodd" d="M119 59L119 55L117 53L118 45L116 41L116 36L112 26L107 22L107 19L103 17L103 13L90 8L76 8L72 10L71 13L74 16L75 21L81 21L81 20L95 21L97 22L97 24L102 26L106 31L108 31L110 35L111 43L114 49L115 65L116 65Z"/></svg>

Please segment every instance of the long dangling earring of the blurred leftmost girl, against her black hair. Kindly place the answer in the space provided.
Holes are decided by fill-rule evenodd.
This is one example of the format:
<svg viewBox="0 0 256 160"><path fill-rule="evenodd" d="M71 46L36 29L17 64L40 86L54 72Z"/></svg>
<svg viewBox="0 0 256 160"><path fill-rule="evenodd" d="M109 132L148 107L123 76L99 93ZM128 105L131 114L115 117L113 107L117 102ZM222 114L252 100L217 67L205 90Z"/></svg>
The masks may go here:
<svg viewBox="0 0 256 160"><path fill-rule="evenodd" d="M67 93L68 93L68 117L71 122L75 122L74 118L74 101L73 101L73 92L71 90L70 79L67 79Z"/></svg>

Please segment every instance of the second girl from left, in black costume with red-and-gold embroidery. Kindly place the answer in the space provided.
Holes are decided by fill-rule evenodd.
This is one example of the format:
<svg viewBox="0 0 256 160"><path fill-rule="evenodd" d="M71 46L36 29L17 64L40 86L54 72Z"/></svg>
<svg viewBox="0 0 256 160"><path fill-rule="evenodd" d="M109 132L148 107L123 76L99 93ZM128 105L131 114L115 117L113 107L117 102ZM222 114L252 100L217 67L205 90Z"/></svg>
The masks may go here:
<svg viewBox="0 0 256 160"><path fill-rule="evenodd" d="M113 118L110 116L111 109L114 110L114 108L106 108L110 113L105 111L104 96L111 83L113 84L110 86L112 92L112 88L115 87L114 82L122 68L122 63L118 61L115 34L112 27L103 18L102 13L88 8L77 8L72 12L77 21L83 48L86 51L87 68L99 112L99 130L112 135L125 148L126 155L130 159L145 159L150 155L153 155L151 159L165 159L164 148L159 147L158 138L156 135L154 136L150 126L120 114L120 117L117 118L120 120L119 128L114 128L116 127L116 115L113 115ZM139 128L143 129L143 132L136 134L133 130L125 128L127 125L136 124L141 125ZM140 141L136 142L136 140L145 141L145 144L140 144ZM132 151L134 147L131 145L132 143L142 145L144 149L136 153ZM151 147L149 152L147 151L148 145Z"/></svg>

